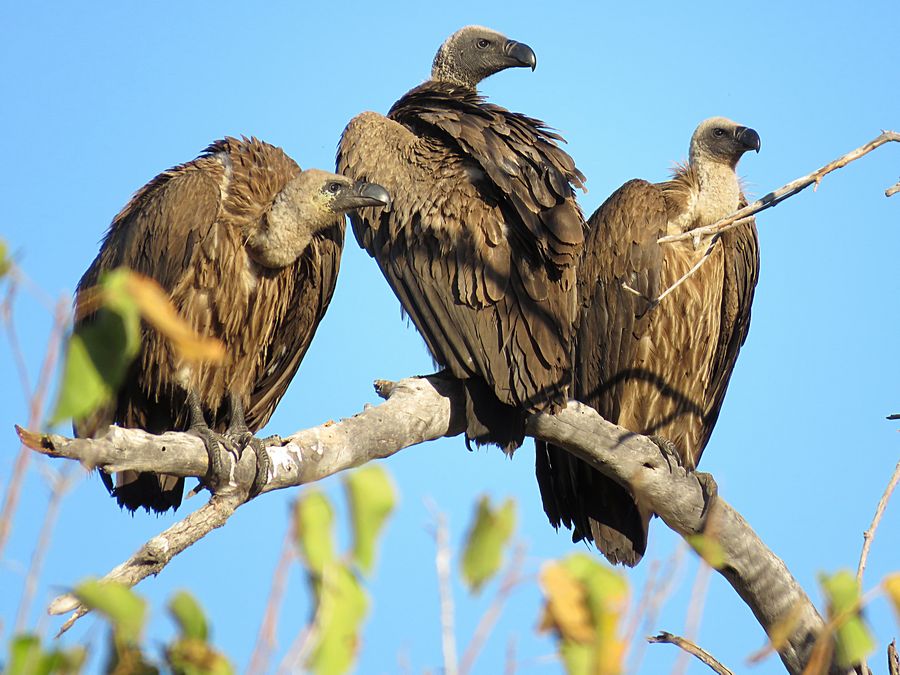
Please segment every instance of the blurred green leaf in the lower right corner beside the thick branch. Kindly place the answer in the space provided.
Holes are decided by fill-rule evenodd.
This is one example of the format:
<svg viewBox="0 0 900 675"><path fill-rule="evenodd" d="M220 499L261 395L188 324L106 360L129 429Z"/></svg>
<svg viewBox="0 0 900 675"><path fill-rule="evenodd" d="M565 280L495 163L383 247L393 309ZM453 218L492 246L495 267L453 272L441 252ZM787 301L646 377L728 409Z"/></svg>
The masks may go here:
<svg viewBox="0 0 900 675"><path fill-rule="evenodd" d="M875 649L875 641L860 614L860 589L856 577L846 570L819 575L828 599L828 615L835 622L835 661L850 668Z"/></svg>

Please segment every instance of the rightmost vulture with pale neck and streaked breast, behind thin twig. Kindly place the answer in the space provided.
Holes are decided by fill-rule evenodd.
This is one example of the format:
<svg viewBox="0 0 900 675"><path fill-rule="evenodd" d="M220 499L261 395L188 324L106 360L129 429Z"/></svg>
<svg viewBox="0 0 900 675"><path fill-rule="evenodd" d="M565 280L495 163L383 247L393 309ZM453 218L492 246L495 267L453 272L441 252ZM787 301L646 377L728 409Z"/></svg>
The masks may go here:
<svg viewBox="0 0 900 675"><path fill-rule="evenodd" d="M591 216L578 269L579 321L573 397L605 419L674 444L694 469L715 426L747 337L759 273L753 223L723 234L709 260L655 299L703 255L709 240L657 239L710 225L743 203L735 172L759 135L715 117L697 127L690 160L672 180L632 180ZM537 444L544 510L573 541L593 541L613 563L635 565L650 513L631 494L560 448Z"/></svg>

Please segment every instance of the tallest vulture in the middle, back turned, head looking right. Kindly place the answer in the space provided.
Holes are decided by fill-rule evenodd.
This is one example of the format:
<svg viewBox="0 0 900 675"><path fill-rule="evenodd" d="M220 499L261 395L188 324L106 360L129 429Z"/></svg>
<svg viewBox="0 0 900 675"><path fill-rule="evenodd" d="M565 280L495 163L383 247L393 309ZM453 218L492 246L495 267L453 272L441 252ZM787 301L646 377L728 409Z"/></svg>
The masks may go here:
<svg viewBox="0 0 900 675"><path fill-rule="evenodd" d="M431 78L387 116L347 125L339 173L384 185L389 211L350 214L445 374L463 383L466 443L511 453L531 411L566 404L584 176L543 122L488 103L477 85L534 52L481 26L451 35Z"/></svg>

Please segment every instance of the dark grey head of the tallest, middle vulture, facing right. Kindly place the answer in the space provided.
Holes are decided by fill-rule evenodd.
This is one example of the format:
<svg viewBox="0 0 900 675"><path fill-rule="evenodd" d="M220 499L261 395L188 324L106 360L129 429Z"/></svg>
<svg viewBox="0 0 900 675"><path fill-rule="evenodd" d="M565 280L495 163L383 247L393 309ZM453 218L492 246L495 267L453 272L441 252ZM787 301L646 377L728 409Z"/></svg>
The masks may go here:
<svg viewBox="0 0 900 675"><path fill-rule="evenodd" d="M531 47L484 26L466 26L447 38L434 57L431 79L469 89L507 68L537 67Z"/></svg>

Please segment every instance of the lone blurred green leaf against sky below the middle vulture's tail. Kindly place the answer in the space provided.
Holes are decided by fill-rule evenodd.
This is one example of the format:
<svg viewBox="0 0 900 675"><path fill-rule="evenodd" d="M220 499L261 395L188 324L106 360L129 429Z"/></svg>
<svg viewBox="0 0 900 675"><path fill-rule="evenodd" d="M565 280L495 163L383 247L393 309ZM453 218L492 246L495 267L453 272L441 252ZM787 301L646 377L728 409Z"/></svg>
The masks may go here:
<svg viewBox="0 0 900 675"><path fill-rule="evenodd" d="M516 504L507 499L497 510L487 496L478 502L462 556L463 581L473 593L481 590L500 569L503 551L516 526Z"/></svg>

